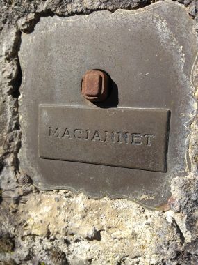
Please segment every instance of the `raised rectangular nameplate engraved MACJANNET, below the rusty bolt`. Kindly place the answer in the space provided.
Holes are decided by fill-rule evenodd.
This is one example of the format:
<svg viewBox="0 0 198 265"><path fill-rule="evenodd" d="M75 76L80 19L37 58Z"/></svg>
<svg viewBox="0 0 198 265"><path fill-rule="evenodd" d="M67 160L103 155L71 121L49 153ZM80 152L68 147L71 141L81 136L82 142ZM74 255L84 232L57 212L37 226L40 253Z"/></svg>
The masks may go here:
<svg viewBox="0 0 198 265"><path fill-rule="evenodd" d="M169 120L166 109L41 105L40 157L166 172Z"/></svg>

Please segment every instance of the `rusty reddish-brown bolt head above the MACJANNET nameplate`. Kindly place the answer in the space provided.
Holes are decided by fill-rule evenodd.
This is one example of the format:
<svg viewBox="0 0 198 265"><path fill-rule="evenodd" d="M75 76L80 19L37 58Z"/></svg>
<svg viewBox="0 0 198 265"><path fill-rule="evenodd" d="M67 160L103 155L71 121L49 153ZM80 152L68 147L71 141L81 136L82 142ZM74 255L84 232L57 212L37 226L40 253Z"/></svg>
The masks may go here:
<svg viewBox="0 0 198 265"><path fill-rule="evenodd" d="M82 93L92 102L104 101L108 96L108 76L100 70L89 70L83 76Z"/></svg>

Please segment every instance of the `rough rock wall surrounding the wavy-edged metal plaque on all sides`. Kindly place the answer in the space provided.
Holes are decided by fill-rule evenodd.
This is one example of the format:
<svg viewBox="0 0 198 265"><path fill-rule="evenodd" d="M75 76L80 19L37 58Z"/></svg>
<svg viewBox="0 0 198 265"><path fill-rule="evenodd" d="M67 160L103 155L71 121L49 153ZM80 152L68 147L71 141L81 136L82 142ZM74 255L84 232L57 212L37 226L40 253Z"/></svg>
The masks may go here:
<svg viewBox="0 0 198 265"><path fill-rule="evenodd" d="M196 0L179 2L198 21ZM164 213L125 199L96 201L67 190L42 192L19 171L21 31L31 33L40 16L113 12L149 4L149 0L0 1L0 264L198 264L198 120L191 125L192 172L172 181L170 211ZM198 38L198 22L195 34ZM197 77L195 67L195 83Z"/></svg>

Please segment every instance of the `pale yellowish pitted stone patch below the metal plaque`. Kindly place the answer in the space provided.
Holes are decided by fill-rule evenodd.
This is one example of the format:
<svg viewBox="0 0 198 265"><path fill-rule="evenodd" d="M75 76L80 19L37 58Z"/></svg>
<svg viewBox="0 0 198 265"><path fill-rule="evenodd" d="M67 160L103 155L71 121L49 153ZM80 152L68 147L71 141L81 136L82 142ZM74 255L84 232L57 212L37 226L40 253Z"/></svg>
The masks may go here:
<svg viewBox="0 0 198 265"><path fill-rule="evenodd" d="M126 200L35 193L15 215L23 221L11 257L26 260L22 264L56 264L53 250L65 253L71 265L160 264L173 260L183 244L173 218Z"/></svg>

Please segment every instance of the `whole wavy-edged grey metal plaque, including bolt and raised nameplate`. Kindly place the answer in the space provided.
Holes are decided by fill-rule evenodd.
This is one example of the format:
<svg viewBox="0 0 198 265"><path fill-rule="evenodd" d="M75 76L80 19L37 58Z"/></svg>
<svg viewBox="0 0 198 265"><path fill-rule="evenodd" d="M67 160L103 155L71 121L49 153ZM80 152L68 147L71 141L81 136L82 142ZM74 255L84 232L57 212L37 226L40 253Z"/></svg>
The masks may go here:
<svg viewBox="0 0 198 265"><path fill-rule="evenodd" d="M163 1L41 17L22 33L20 170L42 190L165 209L171 180L190 172L194 23Z"/></svg>

